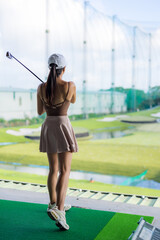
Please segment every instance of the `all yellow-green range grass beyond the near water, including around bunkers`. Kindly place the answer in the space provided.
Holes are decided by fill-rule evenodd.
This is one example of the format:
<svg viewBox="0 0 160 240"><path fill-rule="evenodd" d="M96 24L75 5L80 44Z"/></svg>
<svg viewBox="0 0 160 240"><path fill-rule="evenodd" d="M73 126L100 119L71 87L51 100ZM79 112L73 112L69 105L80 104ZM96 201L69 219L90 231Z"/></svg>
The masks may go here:
<svg viewBox="0 0 160 240"><path fill-rule="evenodd" d="M150 111L129 113L131 117L150 117L160 111L160 107ZM108 115L105 117L113 117ZM101 117L101 118L104 118ZM135 176L148 170L147 179L160 182L160 124L126 124L120 121L101 122L101 118L73 121L77 132L124 130L135 127L132 135L123 138L105 140L78 140L79 152L73 154L72 170L92 171L103 174ZM27 126L28 127L28 126ZM32 128L39 125L30 126ZM14 128L18 130L20 127ZM13 128L12 128L13 129ZM22 164L48 165L46 154L39 153L38 142L24 137L7 134L7 129L0 129L0 142L18 142L17 145L0 147L0 161ZM97 189L98 190L98 189Z"/></svg>

